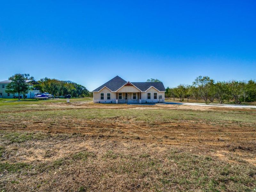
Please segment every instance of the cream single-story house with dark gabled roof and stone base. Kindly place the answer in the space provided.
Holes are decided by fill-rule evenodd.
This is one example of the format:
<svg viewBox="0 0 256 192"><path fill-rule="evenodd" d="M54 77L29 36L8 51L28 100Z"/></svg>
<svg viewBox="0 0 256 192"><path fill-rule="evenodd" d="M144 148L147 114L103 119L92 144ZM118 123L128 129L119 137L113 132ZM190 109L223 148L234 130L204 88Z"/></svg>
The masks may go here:
<svg viewBox="0 0 256 192"><path fill-rule="evenodd" d="M164 103L162 82L130 82L119 76L93 90L94 103Z"/></svg>

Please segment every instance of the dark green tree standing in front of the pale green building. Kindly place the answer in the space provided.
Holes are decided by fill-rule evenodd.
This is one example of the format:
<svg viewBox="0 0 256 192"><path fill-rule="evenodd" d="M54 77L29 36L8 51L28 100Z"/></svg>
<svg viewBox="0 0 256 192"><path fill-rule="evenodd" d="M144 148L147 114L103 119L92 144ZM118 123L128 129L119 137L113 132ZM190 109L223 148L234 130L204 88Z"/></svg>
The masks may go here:
<svg viewBox="0 0 256 192"><path fill-rule="evenodd" d="M5 92L7 93L18 93L18 97L20 100L20 93L25 93L26 95L29 91L29 85L26 83L25 74L15 74L14 76L9 77L11 83L6 86Z"/></svg>

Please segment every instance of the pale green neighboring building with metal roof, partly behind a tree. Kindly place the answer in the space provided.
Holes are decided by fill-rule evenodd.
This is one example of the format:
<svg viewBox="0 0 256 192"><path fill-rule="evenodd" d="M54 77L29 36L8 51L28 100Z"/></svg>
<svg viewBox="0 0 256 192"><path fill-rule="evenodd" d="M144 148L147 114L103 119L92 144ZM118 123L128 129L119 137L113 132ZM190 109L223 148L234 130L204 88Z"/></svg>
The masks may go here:
<svg viewBox="0 0 256 192"><path fill-rule="evenodd" d="M14 96L18 97L18 93L10 94L5 92L6 86L11 82L11 80L0 81L0 98L11 99ZM40 92L33 86L34 84L39 84L38 82L34 80L26 80L26 83L31 85L29 92L26 94L26 98L33 98L37 93ZM23 95L20 96L23 97Z"/></svg>

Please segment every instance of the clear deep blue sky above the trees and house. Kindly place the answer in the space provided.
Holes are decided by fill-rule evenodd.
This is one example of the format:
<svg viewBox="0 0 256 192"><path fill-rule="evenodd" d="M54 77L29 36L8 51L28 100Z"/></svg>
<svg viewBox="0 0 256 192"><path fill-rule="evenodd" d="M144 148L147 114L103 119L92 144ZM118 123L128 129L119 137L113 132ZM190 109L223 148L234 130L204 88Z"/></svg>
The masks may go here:
<svg viewBox="0 0 256 192"><path fill-rule="evenodd" d="M256 79L256 1L1 1L0 68L90 91L116 75Z"/></svg>

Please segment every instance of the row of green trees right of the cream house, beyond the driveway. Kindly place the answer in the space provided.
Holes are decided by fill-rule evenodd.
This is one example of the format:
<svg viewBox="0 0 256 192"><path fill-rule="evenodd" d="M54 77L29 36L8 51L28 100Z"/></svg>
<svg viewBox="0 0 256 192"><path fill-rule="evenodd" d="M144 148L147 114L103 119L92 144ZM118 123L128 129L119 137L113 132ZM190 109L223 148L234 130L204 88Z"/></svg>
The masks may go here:
<svg viewBox="0 0 256 192"><path fill-rule="evenodd" d="M218 100L220 104L225 101L234 101L236 104L242 102L256 101L256 82L249 81L218 81L215 82L208 76L198 76L192 85L180 84L177 87L167 87L165 92L167 98L179 98L187 101L193 97L196 102L202 99L205 104Z"/></svg>

